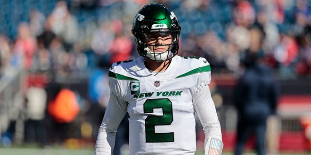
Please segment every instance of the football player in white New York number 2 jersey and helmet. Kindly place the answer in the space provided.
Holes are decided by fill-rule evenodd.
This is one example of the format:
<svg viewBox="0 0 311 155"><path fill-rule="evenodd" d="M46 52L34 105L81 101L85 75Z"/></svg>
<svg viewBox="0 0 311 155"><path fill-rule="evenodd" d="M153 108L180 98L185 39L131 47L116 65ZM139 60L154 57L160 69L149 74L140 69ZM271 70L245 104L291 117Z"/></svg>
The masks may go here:
<svg viewBox="0 0 311 155"><path fill-rule="evenodd" d="M194 155L195 116L205 133L205 154L221 155L222 133L208 84L205 58L180 57L181 28L162 4L145 5L132 33L141 57L109 69L110 99L95 155L111 155L117 128L128 112L130 155Z"/></svg>

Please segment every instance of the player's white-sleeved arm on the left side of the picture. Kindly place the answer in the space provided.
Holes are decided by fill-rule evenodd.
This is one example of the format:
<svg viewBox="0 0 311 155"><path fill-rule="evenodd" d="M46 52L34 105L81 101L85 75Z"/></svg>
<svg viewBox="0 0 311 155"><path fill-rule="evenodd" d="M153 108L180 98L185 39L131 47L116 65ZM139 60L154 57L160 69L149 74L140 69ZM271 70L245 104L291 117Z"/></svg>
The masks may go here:
<svg viewBox="0 0 311 155"><path fill-rule="evenodd" d="M110 93L109 103L106 107L103 122L99 128L95 144L95 155L111 155L116 139L116 133L126 113L126 102Z"/></svg>

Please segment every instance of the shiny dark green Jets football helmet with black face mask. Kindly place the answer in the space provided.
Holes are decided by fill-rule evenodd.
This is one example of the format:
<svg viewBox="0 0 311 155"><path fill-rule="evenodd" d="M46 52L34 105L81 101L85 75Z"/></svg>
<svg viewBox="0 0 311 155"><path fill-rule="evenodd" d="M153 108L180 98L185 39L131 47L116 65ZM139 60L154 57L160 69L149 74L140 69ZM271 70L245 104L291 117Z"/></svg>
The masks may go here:
<svg viewBox="0 0 311 155"><path fill-rule="evenodd" d="M140 56L155 62L171 60L178 53L180 26L172 10L163 4L152 3L138 11L133 21L132 33ZM167 45L147 45L144 40L150 33L172 35L172 43ZM164 53L155 53L148 46L169 46Z"/></svg>

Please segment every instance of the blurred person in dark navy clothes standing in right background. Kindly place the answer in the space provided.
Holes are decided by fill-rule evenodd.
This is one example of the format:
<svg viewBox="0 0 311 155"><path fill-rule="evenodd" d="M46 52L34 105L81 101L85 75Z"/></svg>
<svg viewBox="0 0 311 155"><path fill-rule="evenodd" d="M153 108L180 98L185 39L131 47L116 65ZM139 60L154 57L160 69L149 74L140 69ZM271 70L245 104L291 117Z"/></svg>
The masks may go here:
<svg viewBox="0 0 311 155"><path fill-rule="evenodd" d="M242 155L243 148L252 133L255 134L256 151L265 155L266 123L270 115L276 115L279 95L278 83L272 70L265 64L262 42L264 33L251 28L250 47L243 61L245 72L235 88L235 106L238 110L235 155Z"/></svg>

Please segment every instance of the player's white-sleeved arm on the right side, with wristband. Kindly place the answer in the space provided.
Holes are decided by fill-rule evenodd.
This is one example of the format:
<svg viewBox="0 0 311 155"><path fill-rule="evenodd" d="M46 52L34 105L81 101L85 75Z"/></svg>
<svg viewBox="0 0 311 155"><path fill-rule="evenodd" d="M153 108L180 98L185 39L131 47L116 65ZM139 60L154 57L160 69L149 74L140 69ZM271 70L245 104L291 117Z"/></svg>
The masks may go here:
<svg viewBox="0 0 311 155"><path fill-rule="evenodd" d="M205 155L221 155L223 150L221 127L208 85L194 94L192 100L205 133Z"/></svg>

